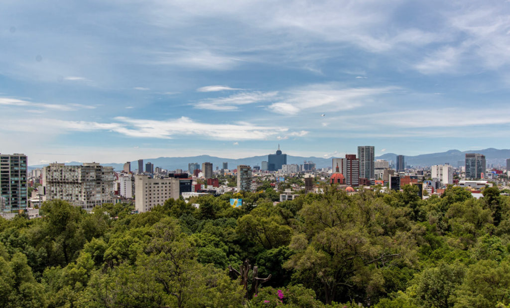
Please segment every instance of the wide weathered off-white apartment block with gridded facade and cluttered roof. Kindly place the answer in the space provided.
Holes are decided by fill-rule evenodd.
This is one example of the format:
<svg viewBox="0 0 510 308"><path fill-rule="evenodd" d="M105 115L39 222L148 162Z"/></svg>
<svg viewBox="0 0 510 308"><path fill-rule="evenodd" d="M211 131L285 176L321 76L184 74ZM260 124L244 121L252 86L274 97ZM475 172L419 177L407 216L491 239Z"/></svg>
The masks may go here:
<svg viewBox="0 0 510 308"><path fill-rule="evenodd" d="M113 203L113 167L98 163L81 166L49 164L44 167L42 185L45 199L62 199L90 211L103 203Z"/></svg>

